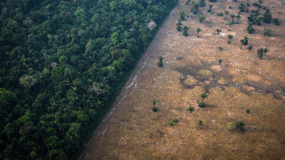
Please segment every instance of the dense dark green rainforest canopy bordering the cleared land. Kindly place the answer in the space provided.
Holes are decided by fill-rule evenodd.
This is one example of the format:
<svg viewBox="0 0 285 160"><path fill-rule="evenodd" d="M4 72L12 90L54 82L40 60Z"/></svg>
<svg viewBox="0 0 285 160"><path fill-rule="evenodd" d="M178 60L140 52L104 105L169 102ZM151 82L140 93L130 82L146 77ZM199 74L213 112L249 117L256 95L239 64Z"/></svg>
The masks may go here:
<svg viewBox="0 0 285 160"><path fill-rule="evenodd" d="M1 1L0 159L76 159L176 2Z"/></svg>

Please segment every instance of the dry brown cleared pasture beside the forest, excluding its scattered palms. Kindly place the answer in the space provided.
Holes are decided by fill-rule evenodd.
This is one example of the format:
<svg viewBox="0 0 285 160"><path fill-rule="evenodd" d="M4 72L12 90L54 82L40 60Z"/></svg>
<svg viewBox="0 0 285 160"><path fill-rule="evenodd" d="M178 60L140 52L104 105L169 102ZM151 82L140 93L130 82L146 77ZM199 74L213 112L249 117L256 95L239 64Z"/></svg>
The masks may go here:
<svg viewBox="0 0 285 160"><path fill-rule="evenodd" d="M249 12L243 12L239 24L228 31L225 20L216 13L228 10L237 15L241 2L246 1L206 1L206 6L199 8L206 20L199 23L190 13L191 5L180 1L94 132L81 159L284 159L285 6L277 0L262 4L270 8L273 19L279 19L279 26L273 20L270 24L262 22L248 34ZM213 4L212 17L206 12L209 4ZM256 7L251 6L249 11L252 9ZM190 26L188 37L176 30L179 10L192 16L182 21ZM197 27L202 29L199 38ZM264 27L272 29L270 37L263 36ZM219 36L217 28L222 30ZM234 36L230 45L228 34ZM249 59L246 45L239 49L239 40L246 35L254 48ZM223 50L219 51L219 46ZM258 59L256 52L262 47L270 52ZM160 55L164 57L163 67L157 66ZM206 107L198 108L197 100L201 101L203 92L208 94ZM154 98L159 100L158 112L152 112ZM196 109L191 114L186 110L190 105ZM250 108L250 114L246 108ZM178 119L178 123L168 126L172 119ZM198 127L198 120L205 125ZM236 124L239 120L245 123L243 132L227 130L229 122Z"/></svg>

